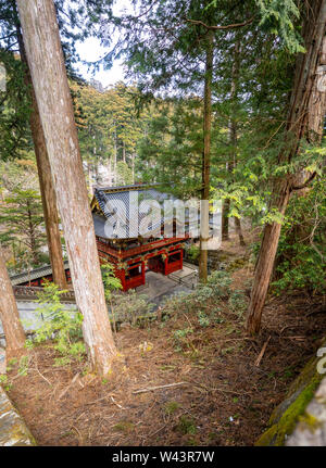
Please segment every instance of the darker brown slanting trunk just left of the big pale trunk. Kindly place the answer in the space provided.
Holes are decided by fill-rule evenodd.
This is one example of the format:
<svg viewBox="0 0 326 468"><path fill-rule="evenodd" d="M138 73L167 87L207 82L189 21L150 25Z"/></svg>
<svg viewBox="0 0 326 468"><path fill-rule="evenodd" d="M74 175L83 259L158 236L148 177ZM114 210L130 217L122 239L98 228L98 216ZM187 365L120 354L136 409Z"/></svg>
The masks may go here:
<svg viewBox="0 0 326 468"><path fill-rule="evenodd" d="M37 172L39 178L39 187L42 200L47 240L49 248L49 256L52 266L53 281L60 289L66 289L66 277L63 263L63 253L61 245L61 236L59 230L59 215L57 208L57 195L53 187L51 167L48 157L48 151L45 140L45 134L40 122L35 91L33 88L29 67L26 59L23 37L21 34L20 25L16 26L18 47L22 62L26 66L25 81L29 87L32 112L29 117L29 125L32 138L35 149Z"/></svg>

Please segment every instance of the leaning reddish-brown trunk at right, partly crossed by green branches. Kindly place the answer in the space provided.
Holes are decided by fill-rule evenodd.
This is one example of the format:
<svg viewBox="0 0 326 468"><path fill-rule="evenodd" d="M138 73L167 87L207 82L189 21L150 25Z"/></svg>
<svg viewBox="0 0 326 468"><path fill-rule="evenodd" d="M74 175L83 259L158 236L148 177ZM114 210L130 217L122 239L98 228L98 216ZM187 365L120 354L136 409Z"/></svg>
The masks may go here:
<svg viewBox="0 0 326 468"><path fill-rule="evenodd" d="M279 163L291 161L296 156L300 140L303 138L314 143L322 138L326 112L326 89L317 85L321 79L317 71L325 58L326 1L315 1L313 8L308 10L306 16L303 29L306 52L300 54L297 60L288 114L287 137L292 144L289 151L284 151L279 155ZM316 92L318 97L316 97ZM289 176L275 181L272 207L276 207L283 215L292 189L293 179ZM278 223L268 224L264 228L248 308L247 331L250 334L258 333L261 328L262 312L273 273L280 228Z"/></svg>

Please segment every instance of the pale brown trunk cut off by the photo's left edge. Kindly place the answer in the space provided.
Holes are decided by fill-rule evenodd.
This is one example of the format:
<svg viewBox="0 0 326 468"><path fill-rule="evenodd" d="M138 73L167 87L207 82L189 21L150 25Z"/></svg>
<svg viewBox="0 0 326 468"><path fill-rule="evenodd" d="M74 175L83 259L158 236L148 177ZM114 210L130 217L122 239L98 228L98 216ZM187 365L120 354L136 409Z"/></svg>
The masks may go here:
<svg viewBox="0 0 326 468"><path fill-rule="evenodd" d="M20 320L16 300L7 271L0 245L0 319L5 337L7 357L20 354L25 344L25 332Z"/></svg>

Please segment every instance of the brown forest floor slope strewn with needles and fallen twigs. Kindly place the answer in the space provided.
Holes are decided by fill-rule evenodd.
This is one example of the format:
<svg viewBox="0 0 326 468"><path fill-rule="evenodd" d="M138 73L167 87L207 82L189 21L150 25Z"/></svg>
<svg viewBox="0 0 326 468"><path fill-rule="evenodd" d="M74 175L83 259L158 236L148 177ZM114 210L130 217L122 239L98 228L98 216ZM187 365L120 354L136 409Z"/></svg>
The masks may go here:
<svg viewBox="0 0 326 468"><path fill-rule="evenodd" d="M235 240L223 248L233 260L246 254ZM250 264L236 269L233 288L251 276ZM271 296L256 339L225 301L202 304L220 318L206 327L198 311L179 308L120 331L125 365L108 379L86 362L54 367L58 352L37 346L25 376L17 366L9 371L9 394L39 445L252 445L325 336L319 306L318 299Z"/></svg>

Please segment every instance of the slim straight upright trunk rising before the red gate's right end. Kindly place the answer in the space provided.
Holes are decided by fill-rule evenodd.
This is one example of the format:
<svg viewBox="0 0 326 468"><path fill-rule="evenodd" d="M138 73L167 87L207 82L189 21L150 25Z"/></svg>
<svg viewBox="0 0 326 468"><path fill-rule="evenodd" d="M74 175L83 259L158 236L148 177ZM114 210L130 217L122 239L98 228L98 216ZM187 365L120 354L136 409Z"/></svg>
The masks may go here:
<svg viewBox="0 0 326 468"><path fill-rule="evenodd" d="M210 170L211 170L211 130L212 130L212 78L213 78L213 51L214 35L208 33L208 46L205 58L204 79L204 109L203 109L203 159L202 159L202 191L201 200L201 232L199 279L208 280L208 241L209 241L209 200L210 200Z"/></svg>

